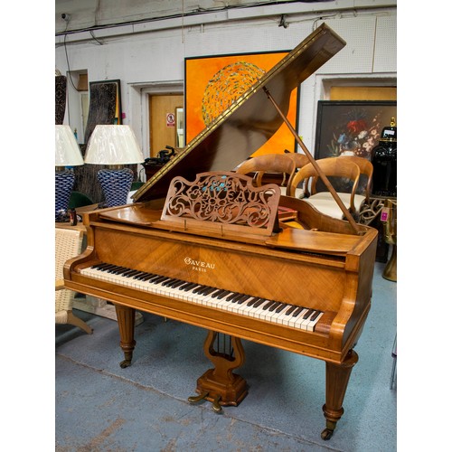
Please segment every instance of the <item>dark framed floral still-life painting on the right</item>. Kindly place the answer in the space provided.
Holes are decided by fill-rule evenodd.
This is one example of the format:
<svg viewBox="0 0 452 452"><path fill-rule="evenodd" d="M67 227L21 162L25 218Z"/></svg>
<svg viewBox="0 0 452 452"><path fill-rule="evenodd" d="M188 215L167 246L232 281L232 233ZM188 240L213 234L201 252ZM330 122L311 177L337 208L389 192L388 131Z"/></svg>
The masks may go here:
<svg viewBox="0 0 452 452"><path fill-rule="evenodd" d="M315 159L356 155L370 160L391 118L397 119L395 100L319 100Z"/></svg>

